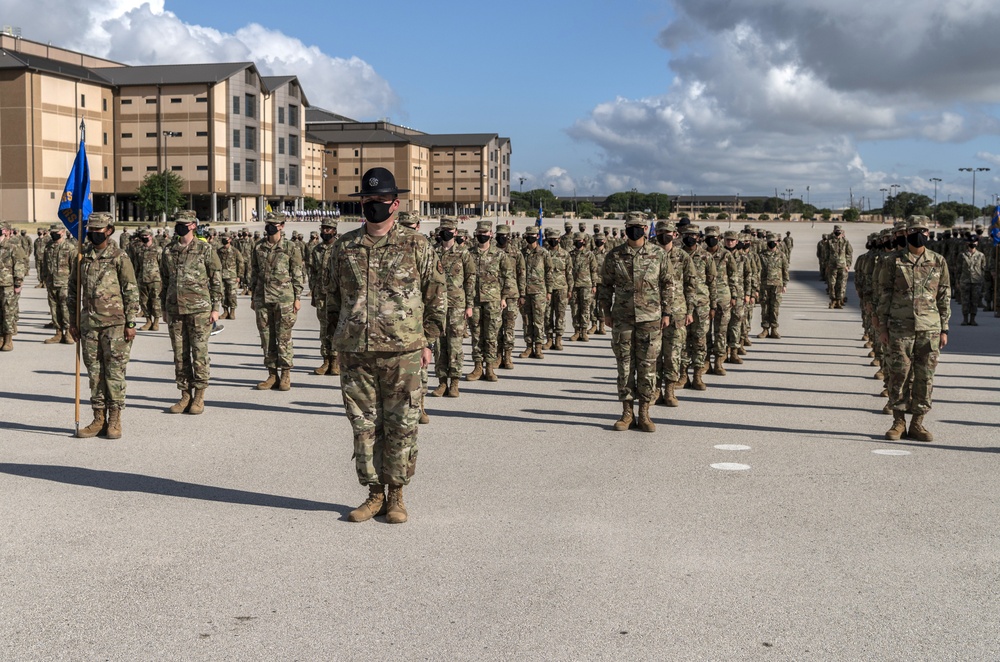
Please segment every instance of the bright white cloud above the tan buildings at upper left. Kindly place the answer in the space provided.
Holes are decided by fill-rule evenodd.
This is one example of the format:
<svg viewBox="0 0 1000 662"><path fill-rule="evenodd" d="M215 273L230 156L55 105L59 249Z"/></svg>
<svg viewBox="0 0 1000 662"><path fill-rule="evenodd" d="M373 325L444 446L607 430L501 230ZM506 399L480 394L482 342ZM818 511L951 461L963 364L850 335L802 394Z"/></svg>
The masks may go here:
<svg viewBox="0 0 1000 662"><path fill-rule="evenodd" d="M0 16L35 41L125 64L255 62L264 75L295 75L309 102L357 119L398 114L400 101L371 65L251 23L234 34L192 25L163 0L0 0Z"/></svg>

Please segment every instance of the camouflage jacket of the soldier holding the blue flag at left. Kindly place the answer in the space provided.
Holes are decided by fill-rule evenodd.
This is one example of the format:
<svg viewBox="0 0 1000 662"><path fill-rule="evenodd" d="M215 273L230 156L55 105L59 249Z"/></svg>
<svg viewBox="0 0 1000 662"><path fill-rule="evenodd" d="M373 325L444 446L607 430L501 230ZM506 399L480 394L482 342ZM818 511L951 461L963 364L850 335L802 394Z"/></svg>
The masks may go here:
<svg viewBox="0 0 1000 662"><path fill-rule="evenodd" d="M139 316L139 286L132 263L111 241L100 252L88 243L79 268L70 271L70 316L76 315L77 290L80 318L75 326L81 331L123 326Z"/></svg>

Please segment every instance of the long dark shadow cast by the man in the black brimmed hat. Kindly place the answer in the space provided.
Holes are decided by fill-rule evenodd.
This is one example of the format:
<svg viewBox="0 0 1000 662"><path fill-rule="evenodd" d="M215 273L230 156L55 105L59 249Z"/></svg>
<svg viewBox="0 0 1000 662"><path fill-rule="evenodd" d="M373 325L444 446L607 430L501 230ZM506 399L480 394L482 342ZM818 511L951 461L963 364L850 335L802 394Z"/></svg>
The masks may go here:
<svg viewBox="0 0 1000 662"><path fill-rule="evenodd" d="M197 483L185 483L169 478L157 478L156 476L144 476L142 474L123 473L120 471L103 471L100 469L46 464L0 463L0 473L11 476L22 476L24 478L51 480L67 485L96 487L114 492L144 492L159 496L233 503L243 506L327 511L335 512L339 515L346 515L351 511L350 507L335 503L322 503L275 494L261 494L259 492L246 492L244 490L233 490L225 487L198 485Z"/></svg>

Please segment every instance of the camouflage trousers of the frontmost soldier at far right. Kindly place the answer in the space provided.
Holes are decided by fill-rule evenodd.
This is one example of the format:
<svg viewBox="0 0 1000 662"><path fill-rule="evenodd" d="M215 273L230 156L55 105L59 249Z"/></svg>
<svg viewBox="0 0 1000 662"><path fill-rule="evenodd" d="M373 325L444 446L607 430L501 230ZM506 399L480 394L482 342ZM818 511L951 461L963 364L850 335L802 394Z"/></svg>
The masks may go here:
<svg viewBox="0 0 1000 662"><path fill-rule="evenodd" d="M941 353L937 331L889 331L889 406L923 414L931 409L934 371Z"/></svg>

